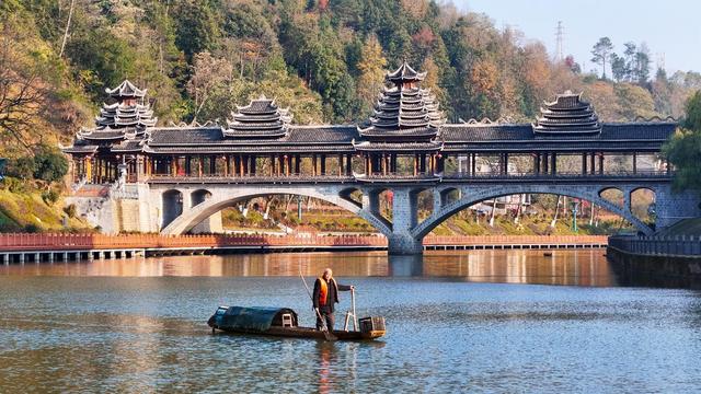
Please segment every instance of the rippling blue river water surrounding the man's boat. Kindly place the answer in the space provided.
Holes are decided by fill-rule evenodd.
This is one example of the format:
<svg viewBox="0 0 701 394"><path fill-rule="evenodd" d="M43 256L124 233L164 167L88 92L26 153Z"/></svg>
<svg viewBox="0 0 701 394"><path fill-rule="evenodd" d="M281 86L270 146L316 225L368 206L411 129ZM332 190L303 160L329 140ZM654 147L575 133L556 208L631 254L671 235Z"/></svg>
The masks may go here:
<svg viewBox="0 0 701 394"><path fill-rule="evenodd" d="M0 392L699 392L701 294L618 287L602 253L0 266ZM289 306L312 325L299 271L311 282L326 266L357 287L358 315L387 318L384 338L206 326L219 304Z"/></svg>

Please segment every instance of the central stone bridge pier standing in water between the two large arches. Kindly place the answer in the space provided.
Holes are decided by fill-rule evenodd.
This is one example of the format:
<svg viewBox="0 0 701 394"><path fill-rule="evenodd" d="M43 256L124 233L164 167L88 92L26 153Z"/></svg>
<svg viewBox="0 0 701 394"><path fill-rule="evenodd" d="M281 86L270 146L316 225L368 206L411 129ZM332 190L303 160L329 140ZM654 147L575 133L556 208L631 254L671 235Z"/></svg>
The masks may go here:
<svg viewBox="0 0 701 394"><path fill-rule="evenodd" d="M418 193L409 187L392 189L392 232L388 234L388 253L390 255L422 254L424 246L421 240L412 235L416 227Z"/></svg>

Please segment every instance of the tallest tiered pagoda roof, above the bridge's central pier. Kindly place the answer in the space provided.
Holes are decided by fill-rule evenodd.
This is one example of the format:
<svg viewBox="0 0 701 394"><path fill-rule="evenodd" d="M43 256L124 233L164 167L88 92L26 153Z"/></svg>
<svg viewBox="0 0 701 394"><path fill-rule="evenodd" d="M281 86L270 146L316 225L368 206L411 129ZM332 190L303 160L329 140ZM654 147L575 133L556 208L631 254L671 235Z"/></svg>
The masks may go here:
<svg viewBox="0 0 701 394"><path fill-rule="evenodd" d="M440 148L436 138L444 123L443 113L438 111L436 96L418 86L425 77L425 72L417 72L406 61L386 74L386 81L393 86L382 89L369 127L358 128L360 137L367 139L356 144L359 150L375 150L374 144L378 143L386 149L392 143L404 147L416 143L417 150L426 150L427 144Z"/></svg>

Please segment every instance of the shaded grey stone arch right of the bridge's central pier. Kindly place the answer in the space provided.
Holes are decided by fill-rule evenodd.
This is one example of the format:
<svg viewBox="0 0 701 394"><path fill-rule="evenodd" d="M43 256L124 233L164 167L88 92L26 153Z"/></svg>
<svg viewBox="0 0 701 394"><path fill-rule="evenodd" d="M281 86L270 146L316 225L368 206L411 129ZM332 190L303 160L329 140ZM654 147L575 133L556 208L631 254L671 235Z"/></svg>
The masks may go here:
<svg viewBox="0 0 701 394"><path fill-rule="evenodd" d="M468 186L462 188L462 197L456 201L444 205L437 211L426 218L421 224L416 225L411 235L421 240L428 234L434 228L443 223L446 219L450 218L455 213L462 209L470 207L480 201L484 201L491 198L510 196L517 194L555 194L574 198L582 198L595 202L596 205L604 207L608 211L620 216L635 225L640 231L645 234L652 234L653 229L645 224L642 220L632 215L630 210L630 204L625 204L623 207L619 207L613 202L602 198L599 195L601 189L610 187L590 187L587 185L570 186L570 185L542 185L542 184L507 184L499 186ZM616 187L621 189L620 187ZM624 196L630 196L630 188L621 189ZM627 198L628 201L628 198Z"/></svg>

